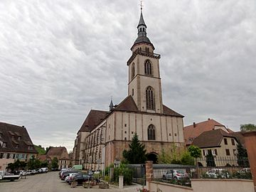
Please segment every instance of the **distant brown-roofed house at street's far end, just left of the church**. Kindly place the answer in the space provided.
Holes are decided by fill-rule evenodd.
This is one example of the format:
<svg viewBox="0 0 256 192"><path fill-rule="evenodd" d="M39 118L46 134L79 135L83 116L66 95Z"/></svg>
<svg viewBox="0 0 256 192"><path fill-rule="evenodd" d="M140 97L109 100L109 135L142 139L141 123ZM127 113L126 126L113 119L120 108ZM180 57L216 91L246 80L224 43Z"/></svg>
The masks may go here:
<svg viewBox="0 0 256 192"><path fill-rule="evenodd" d="M53 147L47 151L46 156L42 156L42 159L47 159L49 164L53 161L54 157L58 159L58 169L70 167L70 157L65 146Z"/></svg>

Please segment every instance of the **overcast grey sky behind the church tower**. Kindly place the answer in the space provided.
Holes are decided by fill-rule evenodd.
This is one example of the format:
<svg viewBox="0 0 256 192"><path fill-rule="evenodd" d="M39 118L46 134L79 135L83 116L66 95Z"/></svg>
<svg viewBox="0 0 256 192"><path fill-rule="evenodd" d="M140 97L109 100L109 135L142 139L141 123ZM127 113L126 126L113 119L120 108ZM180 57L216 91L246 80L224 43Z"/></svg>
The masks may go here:
<svg viewBox="0 0 256 192"><path fill-rule="evenodd" d="M164 104L184 124L256 124L256 1L144 1ZM1 0L0 122L73 149L91 109L127 96L138 0Z"/></svg>

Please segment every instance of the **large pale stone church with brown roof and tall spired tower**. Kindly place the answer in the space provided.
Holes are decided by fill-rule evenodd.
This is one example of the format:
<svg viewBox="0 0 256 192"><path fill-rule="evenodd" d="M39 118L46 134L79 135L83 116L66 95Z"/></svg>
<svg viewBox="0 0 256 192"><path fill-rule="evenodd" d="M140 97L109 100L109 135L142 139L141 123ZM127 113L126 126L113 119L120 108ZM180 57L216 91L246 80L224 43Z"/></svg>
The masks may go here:
<svg viewBox="0 0 256 192"><path fill-rule="evenodd" d="M102 169L122 160L135 133L145 144L148 159L156 162L157 154L171 144L184 147L183 115L162 102L159 60L146 34L142 10L138 36L127 61L128 95L119 105L110 102L110 111L90 110L80 127L73 148L73 164L84 169Z"/></svg>

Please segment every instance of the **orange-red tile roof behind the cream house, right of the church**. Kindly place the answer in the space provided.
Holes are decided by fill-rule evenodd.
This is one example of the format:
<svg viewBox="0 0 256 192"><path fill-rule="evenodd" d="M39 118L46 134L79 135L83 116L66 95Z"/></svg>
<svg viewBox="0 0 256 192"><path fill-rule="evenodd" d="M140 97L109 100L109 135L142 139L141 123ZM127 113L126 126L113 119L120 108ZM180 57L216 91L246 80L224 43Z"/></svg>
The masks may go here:
<svg viewBox="0 0 256 192"><path fill-rule="evenodd" d="M208 119L205 122L199 122L195 124L188 125L183 128L184 139L186 145L190 145L193 142L193 139L198 137L203 132L207 132L215 129L215 127L225 127L223 124L216 122L214 119Z"/></svg>

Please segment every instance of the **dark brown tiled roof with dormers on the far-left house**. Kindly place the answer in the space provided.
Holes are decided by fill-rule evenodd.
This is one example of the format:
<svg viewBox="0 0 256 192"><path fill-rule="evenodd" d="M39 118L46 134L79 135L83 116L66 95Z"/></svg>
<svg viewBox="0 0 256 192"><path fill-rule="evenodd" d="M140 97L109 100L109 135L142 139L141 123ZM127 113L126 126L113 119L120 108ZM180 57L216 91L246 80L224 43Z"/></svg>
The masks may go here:
<svg viewBox="0 0 256 192"><path fill-rule="evenodd" d="M0 151L37 154L25 127L0 122Z"/></svg>

